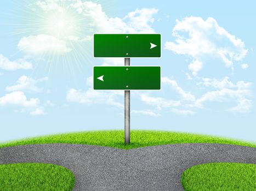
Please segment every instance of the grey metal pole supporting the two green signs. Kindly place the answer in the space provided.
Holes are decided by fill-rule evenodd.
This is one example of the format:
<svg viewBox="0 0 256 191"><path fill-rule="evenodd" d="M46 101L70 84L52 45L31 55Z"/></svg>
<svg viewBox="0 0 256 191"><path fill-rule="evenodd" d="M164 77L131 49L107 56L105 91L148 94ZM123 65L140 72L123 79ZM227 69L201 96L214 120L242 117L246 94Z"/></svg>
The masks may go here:
<svg viewBox="0 0 256 191"><path fill-rule="evenodd" d="M130 65L130 58L124 58L124 65ZM129 90L124 90L124 144L130 144L130 91Z"/></svg>

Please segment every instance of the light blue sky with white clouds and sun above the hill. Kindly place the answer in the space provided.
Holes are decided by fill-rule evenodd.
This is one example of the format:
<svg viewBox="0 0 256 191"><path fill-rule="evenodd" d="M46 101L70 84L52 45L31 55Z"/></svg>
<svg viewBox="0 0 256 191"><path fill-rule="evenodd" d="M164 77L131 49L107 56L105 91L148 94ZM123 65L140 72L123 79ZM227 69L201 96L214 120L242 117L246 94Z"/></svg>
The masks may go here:
<svg viewBox="0 0 256 191"><path fill-rule="evenodd" d="M256 141L254 1L0 2L0 142L124 128L124 92L94 91L94 33L160 33L161 91L131 91L130 129Z"/></svg>

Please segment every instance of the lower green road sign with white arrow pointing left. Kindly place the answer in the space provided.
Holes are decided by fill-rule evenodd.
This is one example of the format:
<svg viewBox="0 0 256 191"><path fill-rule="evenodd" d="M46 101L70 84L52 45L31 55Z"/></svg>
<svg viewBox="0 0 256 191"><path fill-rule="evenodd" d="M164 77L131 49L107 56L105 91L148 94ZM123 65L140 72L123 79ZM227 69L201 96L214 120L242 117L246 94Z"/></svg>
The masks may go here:
<svg viewBox="0 0 256 191"><path fill-rule="evenodd" d="M94 67L93 88L147 90L161 88L161 67Z"/></svg>

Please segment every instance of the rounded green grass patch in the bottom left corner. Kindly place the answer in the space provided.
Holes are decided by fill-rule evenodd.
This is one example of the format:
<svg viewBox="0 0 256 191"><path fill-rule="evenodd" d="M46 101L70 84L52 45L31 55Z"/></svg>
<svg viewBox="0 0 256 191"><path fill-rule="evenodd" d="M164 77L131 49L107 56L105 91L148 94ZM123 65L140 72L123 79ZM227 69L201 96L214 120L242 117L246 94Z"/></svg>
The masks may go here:
<svg viewBox="0 0 256 191"><path fill-rule="evenodd" d="M0 165L0 190L72 190L75 176L63 166L43 163Z"/></svg>

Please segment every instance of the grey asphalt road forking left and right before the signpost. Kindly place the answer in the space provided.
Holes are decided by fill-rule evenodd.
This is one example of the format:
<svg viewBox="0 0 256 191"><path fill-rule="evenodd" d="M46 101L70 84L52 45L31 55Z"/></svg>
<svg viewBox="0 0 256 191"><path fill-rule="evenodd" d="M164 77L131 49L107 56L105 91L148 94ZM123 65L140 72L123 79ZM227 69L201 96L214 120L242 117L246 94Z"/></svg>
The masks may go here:
<svg viewBox="0 0 256 191"><path fill-rule="evenodd" d="M44 144L0 148L0 164L52 163L76 177L73 190L183 190L191 166L212 162L255 163L256 148L219 144L161 145L132 150Z"/></svg>

